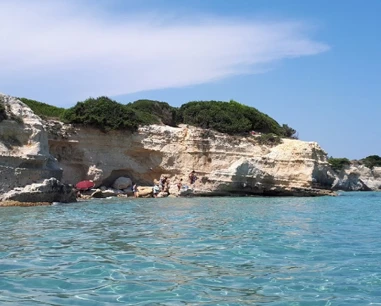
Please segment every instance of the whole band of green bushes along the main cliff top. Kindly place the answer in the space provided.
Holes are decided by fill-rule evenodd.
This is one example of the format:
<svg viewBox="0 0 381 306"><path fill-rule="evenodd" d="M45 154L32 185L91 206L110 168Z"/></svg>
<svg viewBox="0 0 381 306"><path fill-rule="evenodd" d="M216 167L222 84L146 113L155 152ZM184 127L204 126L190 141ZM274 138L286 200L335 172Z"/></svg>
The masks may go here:
<svg viewBox="0 0 381 306"><path fill-rule="evenodd" d="M20 100L44 119L60 118L66 123L93 126L105 132L121 129L135 131L140 125L176 126L184 123L231 135L246 134L250 131L271 134L262 136L258 141L272 144L279 143L279 137L295 138L296 134L287 124L280 126L256 108L234 100L192 101L176 108L166 102L154 100L137 100L124 105L108 97L99 97L80 101L66 110L26 98Z"/></svg>

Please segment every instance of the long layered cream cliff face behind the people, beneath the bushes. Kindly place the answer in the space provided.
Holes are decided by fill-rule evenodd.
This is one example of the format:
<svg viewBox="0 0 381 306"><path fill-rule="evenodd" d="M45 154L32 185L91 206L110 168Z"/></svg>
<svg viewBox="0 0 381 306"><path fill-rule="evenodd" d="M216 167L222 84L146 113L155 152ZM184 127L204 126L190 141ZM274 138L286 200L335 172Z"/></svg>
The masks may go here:
<svg viewBox="0 0 381 306"><path fill-rule="evenodd" d="M194 194L318 195L335 175L314 142L284 139L259 145L253 136L229 136L194 127L146 126L136 133L68 128L51 136L51 153L64 169L63 181L94 180L110 186L125 176L152 185L161 174L171 183L195 170Z"/></svg>

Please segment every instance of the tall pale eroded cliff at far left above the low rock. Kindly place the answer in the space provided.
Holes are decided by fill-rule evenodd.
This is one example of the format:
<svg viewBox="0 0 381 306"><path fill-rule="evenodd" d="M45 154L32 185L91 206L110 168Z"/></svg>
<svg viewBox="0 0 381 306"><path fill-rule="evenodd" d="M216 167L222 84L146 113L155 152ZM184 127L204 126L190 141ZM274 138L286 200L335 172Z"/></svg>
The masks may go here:
<svg viewBox="0 0 381 306"><path fill-rule="evenodd" d="M60 179L62 170L49 153L40 117L20 100L0 94L7 119L0 121L0 193L44 178Z"/></svg>

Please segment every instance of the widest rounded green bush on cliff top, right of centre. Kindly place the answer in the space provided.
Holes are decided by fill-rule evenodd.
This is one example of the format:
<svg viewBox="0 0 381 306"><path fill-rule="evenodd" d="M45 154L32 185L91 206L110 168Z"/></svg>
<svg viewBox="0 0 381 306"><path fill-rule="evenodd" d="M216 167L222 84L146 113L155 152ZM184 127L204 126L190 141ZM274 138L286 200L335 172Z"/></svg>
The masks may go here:
<svg viewBox="0 0 381 306"><path fill-rule="evenodd" d="M266 114L236 101L194 101L182 105L177 122L201 128L214 129L228 134L251 130L283 135L282 127Z"/></svg>

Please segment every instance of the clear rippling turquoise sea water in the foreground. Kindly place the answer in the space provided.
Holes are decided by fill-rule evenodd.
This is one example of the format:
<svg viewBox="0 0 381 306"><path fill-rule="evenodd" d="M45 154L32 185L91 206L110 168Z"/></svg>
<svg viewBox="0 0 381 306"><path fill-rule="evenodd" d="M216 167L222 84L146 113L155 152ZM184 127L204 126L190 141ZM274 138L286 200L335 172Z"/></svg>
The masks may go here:
<svg viewBox="0 0 381 306"><path fill-rule="evenodd" d="M381 193L0 209L0 305L381 305Z"/></svg>

